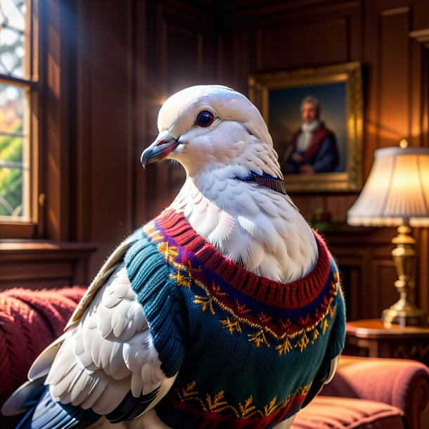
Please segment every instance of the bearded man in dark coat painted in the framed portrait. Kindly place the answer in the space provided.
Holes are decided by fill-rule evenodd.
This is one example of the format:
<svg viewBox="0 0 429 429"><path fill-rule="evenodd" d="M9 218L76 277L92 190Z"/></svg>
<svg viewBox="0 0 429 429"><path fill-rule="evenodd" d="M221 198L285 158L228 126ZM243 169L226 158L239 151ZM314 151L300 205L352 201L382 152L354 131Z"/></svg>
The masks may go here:
<svg viewBox="0 0 429 429"><path fill-rule="evenodd" d="M302 100L302 127L293 134L283 156L286 174L335 171L339 161L337 141L320 114L320 104L314 96Z"/></svg>

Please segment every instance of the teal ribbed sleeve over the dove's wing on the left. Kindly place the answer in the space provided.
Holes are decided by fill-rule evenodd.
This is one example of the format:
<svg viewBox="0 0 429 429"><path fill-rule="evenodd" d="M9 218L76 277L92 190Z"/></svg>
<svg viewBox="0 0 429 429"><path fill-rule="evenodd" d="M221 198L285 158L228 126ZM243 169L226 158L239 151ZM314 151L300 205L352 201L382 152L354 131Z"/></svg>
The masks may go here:
<svg viewBox="0 0 429 429"><path fill-rule="evenodd" d="M167 377L172 377L184 359L186 333L186 311L176 283L170 278L165 257L147 236L143 235L132 245L125 262L132 289L143 308L153 345L162 362L161 369Z"/></svg>

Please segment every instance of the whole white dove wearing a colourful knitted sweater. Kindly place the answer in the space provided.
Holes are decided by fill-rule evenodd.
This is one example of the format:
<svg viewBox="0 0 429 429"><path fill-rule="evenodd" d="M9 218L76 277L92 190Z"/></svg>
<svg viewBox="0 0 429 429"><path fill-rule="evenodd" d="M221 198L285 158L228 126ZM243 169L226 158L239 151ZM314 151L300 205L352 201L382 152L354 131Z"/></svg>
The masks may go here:
<svg viewBox="0 0 429 429"><path fill-rule="evenodd" d="M20 429L289 428L335 371L338 270L286 195L260 113L196 86L162 105L144 165L187 179L91 283L4 414Z"/></svg>

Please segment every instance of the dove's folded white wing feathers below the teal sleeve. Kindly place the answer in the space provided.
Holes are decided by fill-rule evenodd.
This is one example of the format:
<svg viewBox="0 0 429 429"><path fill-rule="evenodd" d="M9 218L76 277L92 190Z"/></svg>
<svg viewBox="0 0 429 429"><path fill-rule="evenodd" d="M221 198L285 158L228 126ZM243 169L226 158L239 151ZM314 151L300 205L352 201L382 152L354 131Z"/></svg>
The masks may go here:
<svg viewBox="0 0 429 429"><path fill-rule="evenodd" d="M127 395L127 402L136 404L143 395L145 405L131 408L137 412L151 409L171 387L175 377L167 378L160 368L123 263L69 331L46 380L54 399L110 414Z"/></svg>

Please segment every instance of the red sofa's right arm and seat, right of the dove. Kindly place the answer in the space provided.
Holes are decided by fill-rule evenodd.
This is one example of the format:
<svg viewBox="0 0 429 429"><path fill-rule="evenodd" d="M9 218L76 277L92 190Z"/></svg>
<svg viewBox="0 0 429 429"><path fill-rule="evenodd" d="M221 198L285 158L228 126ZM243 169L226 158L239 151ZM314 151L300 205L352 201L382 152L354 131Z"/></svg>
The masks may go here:
<svg viewBox="0 0 429 429"><path fill-rule="evenodd" d="M293 429L429 428L429 369L417 361L342 356Z"/></svg>

